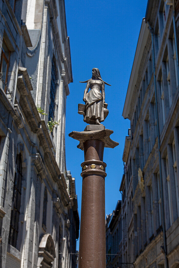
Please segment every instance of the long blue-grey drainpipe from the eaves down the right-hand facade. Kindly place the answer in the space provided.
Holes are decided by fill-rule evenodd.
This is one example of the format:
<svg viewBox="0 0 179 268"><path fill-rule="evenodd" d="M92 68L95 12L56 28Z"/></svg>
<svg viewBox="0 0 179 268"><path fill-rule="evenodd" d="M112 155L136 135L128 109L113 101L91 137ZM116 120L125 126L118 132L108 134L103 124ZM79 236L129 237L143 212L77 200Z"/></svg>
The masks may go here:
<svg viewBox="0 0 179 268"><path fill-rule="evenodd" d="M156 86L156 77L155 77L155 55L154 55L154 43L153 43L153 29L151 28L149 22L149 30L152 36L152 61L153 61L153 77L154 77L154 87L155 87L155 109L157 117L157 137L158 137L158 150L159 150L159 172L160 172L160 195L161 195L161 205L162 205L162 229L163 229L163 247L165 255L165 266L169 268L168 259L167 259L167 243L166 243L166 229L165 229L165 211L164 211L164 202L163 202L163 183L162 183L162 166L161 166L161 155L160 155L160 134L159 134L159 115L157 108L157 86ZM176 49L177 50L177 49Z"/></svg>

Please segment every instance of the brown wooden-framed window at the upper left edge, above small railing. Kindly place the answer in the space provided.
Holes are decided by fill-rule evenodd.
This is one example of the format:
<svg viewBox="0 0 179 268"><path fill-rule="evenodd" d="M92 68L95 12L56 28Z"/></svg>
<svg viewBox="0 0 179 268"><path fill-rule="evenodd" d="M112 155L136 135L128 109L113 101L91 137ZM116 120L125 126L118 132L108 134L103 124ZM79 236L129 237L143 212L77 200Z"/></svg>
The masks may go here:
<svg viewBox="0 0 179 268"><path fill-rule="evenodd" d="M3 40L2 43L2 53L1 53L1 63L0 63L0 72L1 72L1 79L5 83L8 81L8 68L9 68L9 58L10 58L10 51L8 47L6 46L5 41ZM6 90L6 87L4 85L2 80L0 80L0 86L4 90Z"/></svg>

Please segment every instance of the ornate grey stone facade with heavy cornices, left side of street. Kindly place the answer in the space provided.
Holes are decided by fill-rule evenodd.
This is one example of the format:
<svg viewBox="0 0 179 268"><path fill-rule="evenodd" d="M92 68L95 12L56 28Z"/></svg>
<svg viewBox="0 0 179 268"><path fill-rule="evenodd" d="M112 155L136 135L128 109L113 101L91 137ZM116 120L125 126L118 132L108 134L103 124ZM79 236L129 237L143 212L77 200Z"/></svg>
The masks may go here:
<svg viewBox="0 0 179 268"><path fill-rule="evenodd" d="M77 267L64 0L0 1L0 73L0 267Z"/></svg>

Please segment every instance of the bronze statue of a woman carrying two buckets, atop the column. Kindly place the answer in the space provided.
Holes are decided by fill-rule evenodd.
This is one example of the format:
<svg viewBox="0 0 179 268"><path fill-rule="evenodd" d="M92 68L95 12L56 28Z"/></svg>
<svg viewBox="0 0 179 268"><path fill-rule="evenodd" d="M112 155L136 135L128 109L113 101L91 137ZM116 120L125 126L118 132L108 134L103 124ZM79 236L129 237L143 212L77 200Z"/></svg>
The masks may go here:
<svg viewBox="0 0 179 268"><path fill-rule="evenodd" d="M92 69L91 79L80 82L87 83L83 101L84 104L78 104L78 113L83 114L83 121L90 125L102 125L101 122L108 116L108 104L105 103L105 84L102 80L99 69ZM88 92L90 88L90 91ZM100 92L101 91L101 92Z"/></svg>

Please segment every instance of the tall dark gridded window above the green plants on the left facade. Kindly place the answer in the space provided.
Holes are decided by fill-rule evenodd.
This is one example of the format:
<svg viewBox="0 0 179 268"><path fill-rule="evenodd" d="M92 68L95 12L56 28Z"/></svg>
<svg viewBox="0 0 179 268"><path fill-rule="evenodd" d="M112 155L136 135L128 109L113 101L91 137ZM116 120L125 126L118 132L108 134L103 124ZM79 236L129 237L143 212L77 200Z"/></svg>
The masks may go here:
<svg viewBox="0 0 179 268"><path fill-rule="evenodd" d="M50 102L49 102L49 116L48 119L54 120L54 111L55 111L55 95L56 95L56 88L57 88L57 76L56 76L56 65L55 59L53 57L52 60L52 72L51 72L51 85L50 85Z"/></svg>

